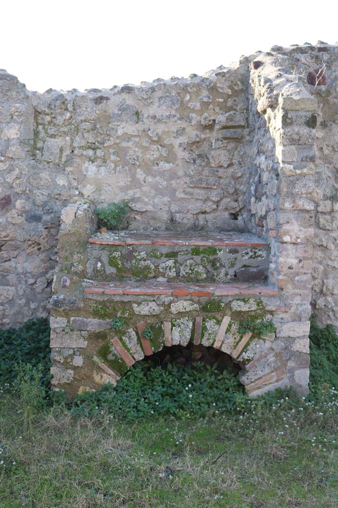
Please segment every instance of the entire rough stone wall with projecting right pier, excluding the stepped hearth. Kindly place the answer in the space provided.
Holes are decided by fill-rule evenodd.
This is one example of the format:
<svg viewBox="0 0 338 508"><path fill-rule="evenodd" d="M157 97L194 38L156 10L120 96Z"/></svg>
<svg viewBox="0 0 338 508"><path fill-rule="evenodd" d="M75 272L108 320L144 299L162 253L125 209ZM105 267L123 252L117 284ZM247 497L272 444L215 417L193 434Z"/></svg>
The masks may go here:
<svg viewBox="0 0 338 508"><path fill-rule="evenodd" d="M287 319L311 304L338 326L337 67L320 43L85 93L0 71L1 326L48 315L60 213L83 199L128 199L130 230L256 233Z"/></svg>

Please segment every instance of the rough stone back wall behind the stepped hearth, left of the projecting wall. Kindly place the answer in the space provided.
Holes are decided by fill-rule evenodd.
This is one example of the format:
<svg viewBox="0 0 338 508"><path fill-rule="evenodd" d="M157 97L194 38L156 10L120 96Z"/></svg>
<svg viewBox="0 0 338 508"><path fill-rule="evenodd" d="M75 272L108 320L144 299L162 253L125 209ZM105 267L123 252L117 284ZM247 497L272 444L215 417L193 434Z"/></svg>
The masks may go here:
<svg viewBox="0 0 338 508"><path fill-rule="evenodd" d="M1 72L3 327L48 314L60 213L73 200L127 199L133 230L245 230L247 80L246 59L85 93L29 92Z"/></svg>

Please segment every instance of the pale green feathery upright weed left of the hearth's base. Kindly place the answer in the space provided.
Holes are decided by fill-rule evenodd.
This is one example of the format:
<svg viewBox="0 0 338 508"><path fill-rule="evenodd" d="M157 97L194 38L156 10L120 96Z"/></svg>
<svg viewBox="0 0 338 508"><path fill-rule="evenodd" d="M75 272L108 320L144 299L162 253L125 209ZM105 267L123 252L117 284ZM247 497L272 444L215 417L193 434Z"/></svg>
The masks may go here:
<svg viewBox="0 0 338 508"><path fill-rule="evenodd" d="M17 365L18 376L14 387L19 395L20 411L28 434L31 433L34 414L44 405L46 390L41 383L43 371L43 365L33 367L29 363L22 362Z"/></svg>

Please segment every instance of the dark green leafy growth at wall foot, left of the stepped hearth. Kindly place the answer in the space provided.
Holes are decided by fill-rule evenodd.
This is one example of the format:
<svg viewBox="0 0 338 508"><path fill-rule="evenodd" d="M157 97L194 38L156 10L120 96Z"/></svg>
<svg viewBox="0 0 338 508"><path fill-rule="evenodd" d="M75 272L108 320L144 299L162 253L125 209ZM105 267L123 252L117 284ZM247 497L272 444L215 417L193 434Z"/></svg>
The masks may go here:
<svg viewBox="0 0 338 508"><path fill-rule="evenodd" d="M0 330L0 383L11 384L20 362L42 365L41 384L50 385L50 328L46 319L28 320L20 328Z"/></svg>

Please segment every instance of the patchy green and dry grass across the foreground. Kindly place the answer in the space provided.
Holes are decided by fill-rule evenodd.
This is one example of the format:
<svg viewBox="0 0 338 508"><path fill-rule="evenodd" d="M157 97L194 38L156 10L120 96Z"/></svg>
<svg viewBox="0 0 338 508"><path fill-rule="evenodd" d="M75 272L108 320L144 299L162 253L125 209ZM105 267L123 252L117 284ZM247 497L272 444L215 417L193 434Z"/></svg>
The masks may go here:
<svg viewBox="0 0 338 508"><path fill-rule="evenodd" d="M0 398L1 508L330 508L338 505L338 393L199 421L75 418L62 406L23 433Z"/></svg>

